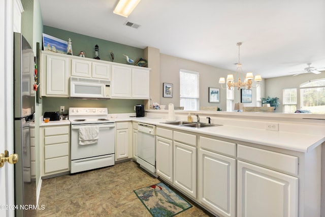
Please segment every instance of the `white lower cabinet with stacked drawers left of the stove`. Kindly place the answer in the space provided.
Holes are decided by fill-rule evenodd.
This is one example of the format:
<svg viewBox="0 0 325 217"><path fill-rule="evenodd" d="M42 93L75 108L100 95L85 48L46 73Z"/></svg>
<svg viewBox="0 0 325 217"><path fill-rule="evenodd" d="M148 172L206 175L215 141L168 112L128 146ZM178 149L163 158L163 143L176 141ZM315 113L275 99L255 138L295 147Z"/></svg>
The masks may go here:
<svg viewBox="0 0 325 217"><path fill-rule="evenodd" d="M41 127L41 176L70 171L70 125Z"/></svg>

